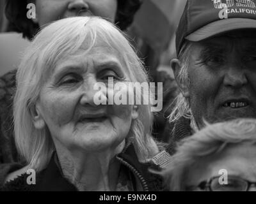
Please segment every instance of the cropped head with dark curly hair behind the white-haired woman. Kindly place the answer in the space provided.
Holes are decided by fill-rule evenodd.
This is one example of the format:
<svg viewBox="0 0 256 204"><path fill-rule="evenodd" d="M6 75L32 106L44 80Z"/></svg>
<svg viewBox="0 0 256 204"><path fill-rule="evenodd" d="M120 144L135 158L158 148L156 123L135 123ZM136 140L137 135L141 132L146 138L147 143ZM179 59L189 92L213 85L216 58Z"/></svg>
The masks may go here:
<svg viewBox="0 0 256 204"><path fill-rule="evenodd" d="M99 16L115 22L122 30L131 25L141 0L8 0L6 17L23 33L26 38L33 38L45 24L55 20L76 16ZM27 5L36 6L36 17L28 18Z"/></svg>

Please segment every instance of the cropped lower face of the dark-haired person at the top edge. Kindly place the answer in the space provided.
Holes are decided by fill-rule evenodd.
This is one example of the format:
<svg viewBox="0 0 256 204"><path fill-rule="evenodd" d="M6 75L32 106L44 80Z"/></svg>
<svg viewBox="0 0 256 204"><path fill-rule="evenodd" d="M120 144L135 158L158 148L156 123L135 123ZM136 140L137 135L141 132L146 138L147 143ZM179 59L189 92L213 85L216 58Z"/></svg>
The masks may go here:
<svg viewBox="0 0 256 204"><path fill-rule="evenodd" d="M117 0L36 0L39 26L61 18L95 15L115 21Z"/></svg>

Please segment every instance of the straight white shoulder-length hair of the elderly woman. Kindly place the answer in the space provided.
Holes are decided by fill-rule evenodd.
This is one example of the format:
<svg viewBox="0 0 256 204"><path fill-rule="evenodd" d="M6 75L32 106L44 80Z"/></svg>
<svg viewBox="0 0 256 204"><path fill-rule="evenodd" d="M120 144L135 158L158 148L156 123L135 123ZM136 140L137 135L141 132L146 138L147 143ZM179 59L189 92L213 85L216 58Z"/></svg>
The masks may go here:
<svg viewBox="0 0 256 204"><path fill-rule="evenodd" d="M56 62L74 54L82 45L89 52L97 40L122 53L129 78L132 82L148 82L143 63L134 48L115 25L100 17L72 17L58 20L38 33L26 49L17 72L17 91L14 98L15 143L19 153L31 168L46 167L54 144L49 129L36 129L29 112L35 106L45 79L51 75ZM151 129L150 105L138 106L138 119L132 121L129 140L139 158L156 153Z"/></svg>

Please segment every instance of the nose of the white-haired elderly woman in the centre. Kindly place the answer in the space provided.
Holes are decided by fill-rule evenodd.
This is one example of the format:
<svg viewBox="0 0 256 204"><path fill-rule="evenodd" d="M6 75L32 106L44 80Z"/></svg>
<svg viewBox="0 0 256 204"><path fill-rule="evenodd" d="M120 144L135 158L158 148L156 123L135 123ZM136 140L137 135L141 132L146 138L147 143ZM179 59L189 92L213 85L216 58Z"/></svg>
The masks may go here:
<svg viewBox="0 0 256 204"><path fill-rule="evenodd" d="M97 80L93 77L88 78L88 80L84 82L80 99L81 105L97 106L99 105L99 99L107 103L106 92L104 92L104 89L99 89L97 83Z"/></svg>

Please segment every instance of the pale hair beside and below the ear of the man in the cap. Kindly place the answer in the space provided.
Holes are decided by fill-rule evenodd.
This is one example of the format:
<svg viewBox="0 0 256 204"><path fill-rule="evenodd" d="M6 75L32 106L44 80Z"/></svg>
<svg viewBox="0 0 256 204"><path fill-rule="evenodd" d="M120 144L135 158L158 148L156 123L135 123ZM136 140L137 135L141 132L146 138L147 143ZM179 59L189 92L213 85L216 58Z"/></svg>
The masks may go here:
<svg viewBox="0 0 256 204"><path fill-rule="evenodd" d="M177 75L176 80L180 84L189 85L189 75L188 75L188 66L189 66L189 54L191 51L191 42L185 41L180 49L180 54L178 58L180 59L180 72ZM192 113L189 105L189 98L185 98L180 92L178 96L173 101L175 106L173 107L172 113L168 116L169 122L175 122L179 120L180 117L185 117L191 119Z"/></svg>

